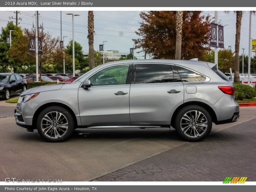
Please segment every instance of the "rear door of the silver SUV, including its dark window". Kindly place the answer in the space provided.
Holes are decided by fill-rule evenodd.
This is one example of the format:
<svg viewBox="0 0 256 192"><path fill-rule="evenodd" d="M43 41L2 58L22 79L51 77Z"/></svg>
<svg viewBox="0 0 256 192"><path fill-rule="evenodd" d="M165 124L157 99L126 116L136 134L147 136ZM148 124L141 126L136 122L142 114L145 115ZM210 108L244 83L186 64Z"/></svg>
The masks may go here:
<svg viewBox="0 0 256 192"><path fill-rule="evenodd" d="M184 100L184 86L175 66L138 63L133 74L130 89L131 124L170 126L173 111Z"/></svg>

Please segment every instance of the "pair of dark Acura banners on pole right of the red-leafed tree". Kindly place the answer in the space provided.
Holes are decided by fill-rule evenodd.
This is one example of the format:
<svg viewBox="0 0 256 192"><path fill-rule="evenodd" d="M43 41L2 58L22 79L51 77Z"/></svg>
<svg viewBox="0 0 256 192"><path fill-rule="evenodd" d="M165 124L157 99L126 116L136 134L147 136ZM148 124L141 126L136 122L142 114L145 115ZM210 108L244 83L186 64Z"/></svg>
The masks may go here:
<svg viewBox="0 0 256 192"><path fill-rule="evenodd" d="M211 24L211 47L224 48L224 27L215 23Z"/></svg>

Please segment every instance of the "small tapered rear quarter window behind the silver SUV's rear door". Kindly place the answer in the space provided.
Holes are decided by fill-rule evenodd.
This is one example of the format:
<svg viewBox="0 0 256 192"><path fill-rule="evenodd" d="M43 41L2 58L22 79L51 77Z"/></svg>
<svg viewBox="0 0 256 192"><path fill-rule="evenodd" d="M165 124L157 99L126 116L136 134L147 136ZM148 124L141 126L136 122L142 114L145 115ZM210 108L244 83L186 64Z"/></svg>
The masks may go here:
<svg viewBox="0 0 256 192"><path fill-rule="evenodd" d="M175 66L175 67L177 68L183 82L199 82L199 81L205 80L204 76L194 71L191 71L183 67L178 67L178 66Z"/></svg>

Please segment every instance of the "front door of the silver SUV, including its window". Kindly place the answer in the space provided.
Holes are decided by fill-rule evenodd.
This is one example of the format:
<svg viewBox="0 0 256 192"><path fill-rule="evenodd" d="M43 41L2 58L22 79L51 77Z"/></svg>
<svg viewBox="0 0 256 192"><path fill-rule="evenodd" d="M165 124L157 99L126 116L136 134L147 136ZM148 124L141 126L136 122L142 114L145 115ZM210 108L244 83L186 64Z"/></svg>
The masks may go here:
<svg viewBox="0 0 256 192"><path fill-rule="evenodd" d="M130 125L129 94L132 64L103 68L78 90L82 125Z"/></svg>

